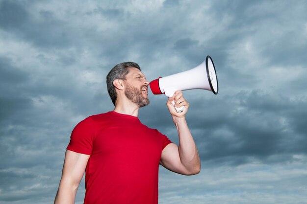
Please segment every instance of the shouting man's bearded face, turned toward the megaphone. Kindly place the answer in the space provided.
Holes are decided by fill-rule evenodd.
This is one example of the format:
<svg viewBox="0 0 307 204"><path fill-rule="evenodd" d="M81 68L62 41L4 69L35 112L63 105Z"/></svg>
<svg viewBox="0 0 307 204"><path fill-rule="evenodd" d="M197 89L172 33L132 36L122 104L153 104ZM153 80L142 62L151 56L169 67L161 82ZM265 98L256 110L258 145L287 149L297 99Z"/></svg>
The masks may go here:
<svg viewBox="0 0 307 204"><path fill-rule="evenodd" d="M148 85L145 75L137 68L128 68L125 95L140 108L149 104Z"/></svg>

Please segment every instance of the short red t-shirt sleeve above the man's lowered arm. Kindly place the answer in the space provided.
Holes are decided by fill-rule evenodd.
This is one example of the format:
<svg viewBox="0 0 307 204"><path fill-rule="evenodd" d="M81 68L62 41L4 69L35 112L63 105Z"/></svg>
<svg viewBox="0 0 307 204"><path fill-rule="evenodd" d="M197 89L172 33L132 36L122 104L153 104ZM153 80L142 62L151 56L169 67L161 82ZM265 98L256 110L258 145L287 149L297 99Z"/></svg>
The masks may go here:
<svg viewBox="0 0 307 204"><path fill-rule="evenodd" d="M70 136L67 150L80 154L91 155L94 141L93 120L85 118L77 124Z"/></svg>

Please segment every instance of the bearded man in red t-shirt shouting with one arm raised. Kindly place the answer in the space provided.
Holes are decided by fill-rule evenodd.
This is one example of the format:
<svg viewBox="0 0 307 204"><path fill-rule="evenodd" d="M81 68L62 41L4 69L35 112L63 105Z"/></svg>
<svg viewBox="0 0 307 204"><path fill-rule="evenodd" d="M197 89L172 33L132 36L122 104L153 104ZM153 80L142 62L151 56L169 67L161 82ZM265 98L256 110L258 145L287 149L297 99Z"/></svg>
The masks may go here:
<svg viewBox="0 0 307 204"><path fill-rule="evenodd" d="M84 204L157 204L159 164L183 175L200 172L198 151L185 120L189 103L181 91L167 101L179 146L139 121L139 108L149 104L148 85L136 63L111 69L107 89L115 108L87 117L73 130L55 204L75 202L84 171ZM185 107L182 113L177 113L173 100L177 107Z"/></svg>

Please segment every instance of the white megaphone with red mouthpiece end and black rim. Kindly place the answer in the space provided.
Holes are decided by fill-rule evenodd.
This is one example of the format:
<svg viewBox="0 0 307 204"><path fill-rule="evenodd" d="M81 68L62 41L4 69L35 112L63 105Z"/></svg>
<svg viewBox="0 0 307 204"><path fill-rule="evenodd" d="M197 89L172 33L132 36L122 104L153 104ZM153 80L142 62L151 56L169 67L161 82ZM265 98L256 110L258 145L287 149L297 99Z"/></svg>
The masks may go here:
<svg viewBox="0 0 307 204"><path fill-rule="evenodd" d="M165 94L167 97L172 97L177 90L203 89L212 91L214 94L219 91L216 70L209 55L199 66L177 74L159 77L151 81L149 85L153 94ZM184 109L184 107L180 107L181 110L175 108L178 112Z"/></svg>

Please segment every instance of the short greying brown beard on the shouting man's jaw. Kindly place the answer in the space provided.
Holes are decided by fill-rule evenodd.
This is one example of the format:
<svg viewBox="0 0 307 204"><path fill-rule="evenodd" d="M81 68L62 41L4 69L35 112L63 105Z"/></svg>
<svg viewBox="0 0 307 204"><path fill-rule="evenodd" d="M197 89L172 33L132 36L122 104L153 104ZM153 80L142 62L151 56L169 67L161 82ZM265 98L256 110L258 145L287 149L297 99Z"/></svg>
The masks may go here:
<svg viewBox="0 0 307 204"><path fill-rule="evenodd" d="M144 85L145 86L145 85ZM136 105L138 105L139 108L143 107L143 106L147 106L149 104L149 99L145 98L142 95L142 89L143 87L141 87L141 89L137 89L135 87L131 87L127 84L127 88L125 90L125 95L126 97L132 101L133 103L135 103Z"/></svg>

